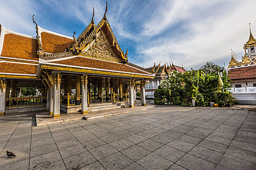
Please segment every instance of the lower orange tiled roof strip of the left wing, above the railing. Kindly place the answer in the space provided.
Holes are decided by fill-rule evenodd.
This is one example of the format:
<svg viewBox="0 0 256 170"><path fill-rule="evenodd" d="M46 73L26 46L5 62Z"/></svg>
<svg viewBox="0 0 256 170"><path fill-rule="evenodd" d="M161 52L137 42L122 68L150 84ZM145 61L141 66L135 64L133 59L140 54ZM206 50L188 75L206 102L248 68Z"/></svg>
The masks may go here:
<svg viewBox="0 0 256 170"><path fill-rule="evenodd" d="M37 74L38 65L0 62L0 73Z"/></svg>

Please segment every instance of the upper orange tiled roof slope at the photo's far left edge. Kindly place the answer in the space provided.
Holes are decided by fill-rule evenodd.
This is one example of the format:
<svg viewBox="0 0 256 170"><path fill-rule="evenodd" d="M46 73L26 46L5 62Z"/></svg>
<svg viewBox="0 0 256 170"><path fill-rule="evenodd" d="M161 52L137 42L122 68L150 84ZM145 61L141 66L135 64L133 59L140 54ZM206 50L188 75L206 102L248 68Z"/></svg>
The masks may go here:
<svg viewBox="0 0 256 170"><path fill-rule="evenodd" d="M39 60L37 55L37 40L16 34L5 34L0 56Z"/></svg>

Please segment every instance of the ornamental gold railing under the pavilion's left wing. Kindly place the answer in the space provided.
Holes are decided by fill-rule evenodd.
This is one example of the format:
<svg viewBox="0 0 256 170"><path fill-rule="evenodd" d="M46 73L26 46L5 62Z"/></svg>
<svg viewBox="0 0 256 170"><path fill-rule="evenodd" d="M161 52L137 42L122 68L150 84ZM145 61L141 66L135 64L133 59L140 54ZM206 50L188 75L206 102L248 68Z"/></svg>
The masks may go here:
<svg viewBox="0 0 256 170"><path fill-rule="evenodd" d="M16 97L16 98L5 98L5 106L19 106L19 105L37 105L45 104L47 97Z"/></svg>

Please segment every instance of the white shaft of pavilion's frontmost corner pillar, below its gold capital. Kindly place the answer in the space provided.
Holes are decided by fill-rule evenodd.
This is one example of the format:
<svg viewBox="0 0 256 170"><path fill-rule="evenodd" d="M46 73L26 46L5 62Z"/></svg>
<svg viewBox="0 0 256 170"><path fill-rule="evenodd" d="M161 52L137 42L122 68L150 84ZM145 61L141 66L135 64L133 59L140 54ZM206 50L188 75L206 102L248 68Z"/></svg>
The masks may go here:
<svg viewBox="0 0 256 170"><path fill-rule="evenodd" d="M54 94L53 94L53 117L60 117L60 84L54 84Z"/></svg>

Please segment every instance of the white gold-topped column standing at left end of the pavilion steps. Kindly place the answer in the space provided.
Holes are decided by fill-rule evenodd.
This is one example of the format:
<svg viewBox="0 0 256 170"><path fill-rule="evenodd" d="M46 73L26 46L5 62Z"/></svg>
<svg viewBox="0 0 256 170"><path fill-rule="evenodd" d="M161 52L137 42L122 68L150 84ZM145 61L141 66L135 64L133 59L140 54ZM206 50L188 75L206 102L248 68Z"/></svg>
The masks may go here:
<svg viewBox="0 0 256 170"><path fill-rule="evenodd" d="M81 92L82 92L82 109L81 114L87 114L87 75L81 76Z"/></svg>

